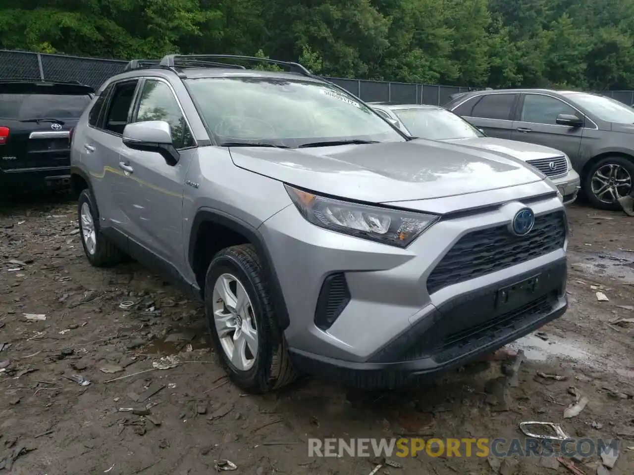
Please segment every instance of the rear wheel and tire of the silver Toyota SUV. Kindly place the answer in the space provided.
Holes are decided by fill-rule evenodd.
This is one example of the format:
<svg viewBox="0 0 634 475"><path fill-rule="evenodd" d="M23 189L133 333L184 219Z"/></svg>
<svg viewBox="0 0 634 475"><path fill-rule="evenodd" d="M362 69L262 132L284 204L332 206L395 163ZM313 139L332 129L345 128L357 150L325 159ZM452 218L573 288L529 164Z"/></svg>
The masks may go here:
<svg viewBox="0 0 634 475"><path fill-rule="evenodd" d="M124 258L124 253L103 235L99 213L89 189L84 189L77 200L79 236L88 262L94 267L113 267Z"/></svg>

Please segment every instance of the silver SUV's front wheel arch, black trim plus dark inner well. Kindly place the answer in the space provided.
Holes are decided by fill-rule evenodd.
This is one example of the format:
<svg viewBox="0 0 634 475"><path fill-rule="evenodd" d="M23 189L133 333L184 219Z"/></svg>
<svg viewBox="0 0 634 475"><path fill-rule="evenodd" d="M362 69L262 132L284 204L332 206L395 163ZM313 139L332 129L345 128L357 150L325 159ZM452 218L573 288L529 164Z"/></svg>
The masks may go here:
<svg viewBox="0 0 634 475"><path fill-rule="evenodd" d="M193 219L187 255L188 263L197 278L198 285L200 286L200 295L204 298L205 286L204 281L201 282L200 278L201 275L204 276L202 272L207 271L206 267L208 263L205 265L205 262L207 259L210 261L210 257L213 257L205 255L205 248L208 247L205 245L205 241L207 241L209 232L224 232L225 234L230 235L227 236L227 241L221 241L228 243L228 246L247 243L254 246L257 256L262 260L262 270L268 283L268 291L271 294L271 300L273 301L273 308L275 309L280 331L285 330L290 325L288 308L284 300L284 295L281 291L280 280L278 279L275 271L273 258L271 258L271 254L264 242L262 234L256 227L241 219L219 210L212 210L209 208L198 210ZM209 244L209 246L210 245L211 244ZM204 270L201 272L201 268L203 266Z"/></svg>

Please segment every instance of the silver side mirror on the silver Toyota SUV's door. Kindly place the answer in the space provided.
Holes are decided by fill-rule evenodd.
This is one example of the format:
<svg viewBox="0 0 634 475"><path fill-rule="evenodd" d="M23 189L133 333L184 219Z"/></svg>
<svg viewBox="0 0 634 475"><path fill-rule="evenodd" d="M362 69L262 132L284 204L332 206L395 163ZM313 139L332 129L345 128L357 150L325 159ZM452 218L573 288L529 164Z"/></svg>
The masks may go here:
<svg viewBox="0 0 634 475"><path fill-rule="evenodd" d="M127 124L123 129L123 143L134 150L159 153L168 165L178 163L179 155L172 142L172 130L164 120Z"/></svg>

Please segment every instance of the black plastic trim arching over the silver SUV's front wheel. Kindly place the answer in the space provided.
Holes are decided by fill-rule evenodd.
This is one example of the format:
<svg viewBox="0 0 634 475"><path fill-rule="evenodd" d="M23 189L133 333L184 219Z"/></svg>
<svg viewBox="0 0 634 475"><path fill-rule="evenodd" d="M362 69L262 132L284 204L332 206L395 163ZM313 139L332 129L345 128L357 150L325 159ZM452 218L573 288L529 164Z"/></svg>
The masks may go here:
<svg viewBox="0 0 634 475"><path fill-rule="evenodd" d="M219 210L212 210L210 208L202 208L198 210L196 216L191 225L190 231L190 243L188 250L188 260L191 269L194 269L194 250L196 244L196 237L198 234L198 228L203 222L212 222L228 227L232 231L238 232L249 239L249 242L256 248L257 255L262 259L262 270L264 270L267 281L269 282L269 291L271 292L271 300L273 300L273 307L278 318L278 324L280 330L285 330L290 325L290 317L288 316L288 308L284 295L281 291L280 279L278 279L275 272L275 265L271 253L269 253L262 234L252 225L235 218L227 213L223 213Z"/></svg>

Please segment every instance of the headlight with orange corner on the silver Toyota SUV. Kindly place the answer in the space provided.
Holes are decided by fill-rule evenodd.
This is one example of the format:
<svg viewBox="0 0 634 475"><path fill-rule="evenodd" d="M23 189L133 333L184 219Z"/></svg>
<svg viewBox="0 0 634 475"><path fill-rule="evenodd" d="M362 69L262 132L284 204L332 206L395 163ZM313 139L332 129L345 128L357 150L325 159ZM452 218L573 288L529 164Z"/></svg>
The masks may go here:
<svg viewBox="0 0 634 475"><path fill-rule="evenodd" d="M399 248L409 246L438 220L437 216L359 205L285 187L299 212L312 224Z"/></svg>

